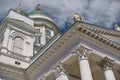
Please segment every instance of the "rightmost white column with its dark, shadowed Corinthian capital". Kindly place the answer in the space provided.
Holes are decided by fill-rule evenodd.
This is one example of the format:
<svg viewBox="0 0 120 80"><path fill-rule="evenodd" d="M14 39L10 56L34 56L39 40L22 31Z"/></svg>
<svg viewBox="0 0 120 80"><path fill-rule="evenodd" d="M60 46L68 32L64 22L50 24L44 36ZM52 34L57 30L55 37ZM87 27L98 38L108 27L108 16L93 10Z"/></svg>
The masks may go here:
<svg viewBox="0 0 120 80"><path fill-rule="evenodd" d="M105 78L106 80L116 80L112 67L113 67L113 62L114 60L111 60L107 57L105 57L103 60L101 60L100 66L102 70L104 71Z"/></svg>

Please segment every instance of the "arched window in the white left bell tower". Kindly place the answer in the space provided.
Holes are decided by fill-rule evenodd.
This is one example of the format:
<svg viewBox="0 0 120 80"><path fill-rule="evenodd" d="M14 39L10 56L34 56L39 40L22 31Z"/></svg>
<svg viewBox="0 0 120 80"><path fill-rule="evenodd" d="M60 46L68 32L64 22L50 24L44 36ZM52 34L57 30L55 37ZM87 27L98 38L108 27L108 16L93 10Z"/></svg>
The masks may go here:
<svg viewBox="0 0 120 80"><path fill-rule="evenodd" d="M23 53L23 44L24 44L23 38L16 36L13 44L13 51L20 54Z"/></svg>

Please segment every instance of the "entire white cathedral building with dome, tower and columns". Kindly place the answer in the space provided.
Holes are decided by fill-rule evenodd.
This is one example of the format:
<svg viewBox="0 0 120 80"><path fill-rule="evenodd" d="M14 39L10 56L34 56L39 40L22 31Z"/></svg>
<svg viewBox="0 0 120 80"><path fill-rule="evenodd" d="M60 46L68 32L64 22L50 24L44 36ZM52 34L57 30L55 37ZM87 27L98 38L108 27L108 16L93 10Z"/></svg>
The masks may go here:
<svg viewBox="0 0 120 80"><path fill-rule="evenodd" d="M120 80L120 27L75 14L60 34L39 4L27 16L10 9L0 26L0 80Z"/></svg>

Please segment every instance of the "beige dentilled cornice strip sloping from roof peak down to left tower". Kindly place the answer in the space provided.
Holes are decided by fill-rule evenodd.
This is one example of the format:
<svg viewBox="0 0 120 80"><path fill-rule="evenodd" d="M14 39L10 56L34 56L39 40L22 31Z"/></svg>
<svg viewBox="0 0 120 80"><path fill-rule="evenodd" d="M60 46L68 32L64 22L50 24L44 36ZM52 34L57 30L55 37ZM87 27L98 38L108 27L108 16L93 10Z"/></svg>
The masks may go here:
<svg viewBox="0 0 120 80"><path fill-rule="evenodd" d="M47 51L44 52L28 69L27 73L33 73L38 67L40 67L47 59L49 59L52 55L56 55L56 52L67 42L69 41L72 36L76 34L75 29L69 30L65 34L65 36L61 36L59 40L57 40L53 45L49 47Z"/></svg>

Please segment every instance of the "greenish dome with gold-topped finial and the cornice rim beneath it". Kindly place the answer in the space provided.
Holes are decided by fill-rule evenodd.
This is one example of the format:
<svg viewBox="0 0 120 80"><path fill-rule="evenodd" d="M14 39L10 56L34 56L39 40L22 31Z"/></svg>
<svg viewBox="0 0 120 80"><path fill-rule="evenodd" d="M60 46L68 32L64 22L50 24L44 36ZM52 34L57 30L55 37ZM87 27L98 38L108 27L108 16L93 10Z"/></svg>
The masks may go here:
<svg viewBox="0 0 120 80"><path fill-rule="evenodd" d="M44 25L48 29L53 29L55 34L59 32L54 20L41 11L40 4L36 6L36 10L33 10L28 14L28 17L34 20L34 27Z"/></svg>

